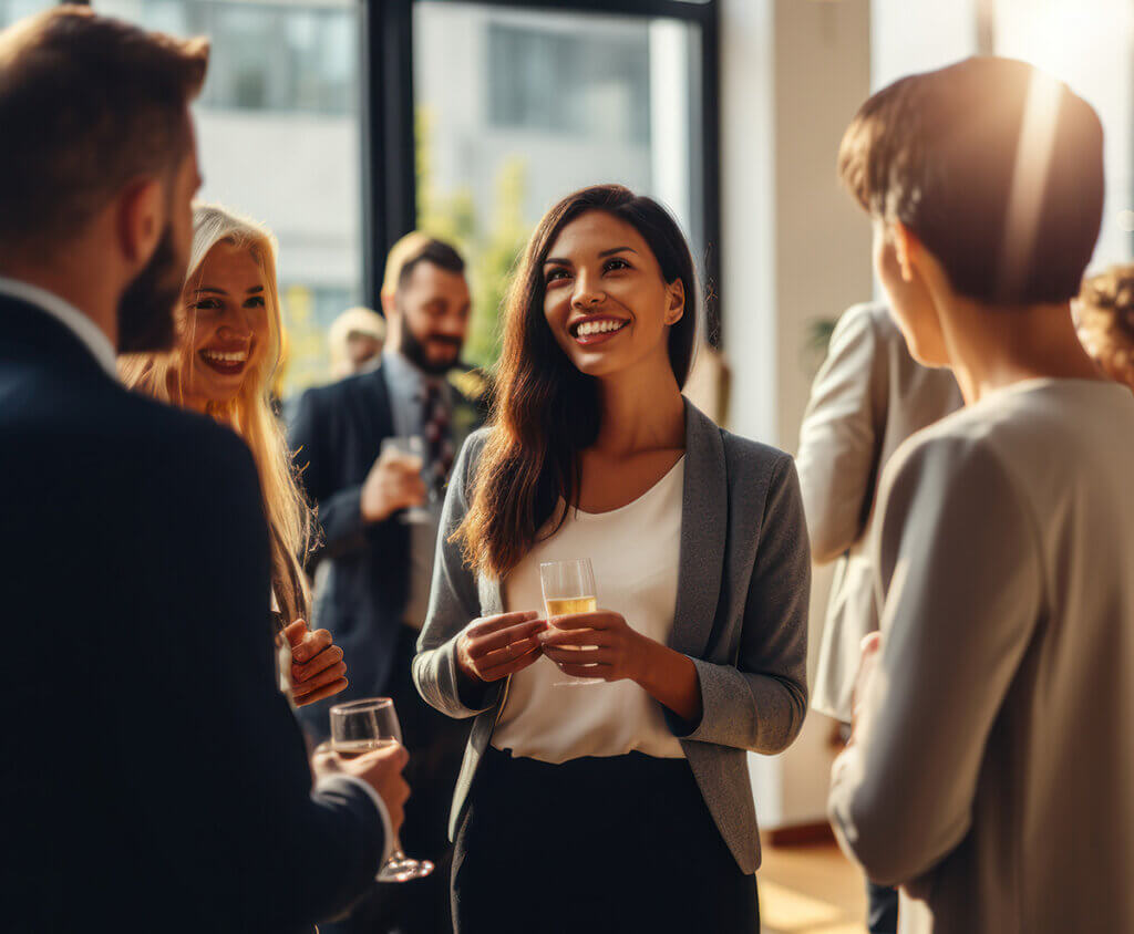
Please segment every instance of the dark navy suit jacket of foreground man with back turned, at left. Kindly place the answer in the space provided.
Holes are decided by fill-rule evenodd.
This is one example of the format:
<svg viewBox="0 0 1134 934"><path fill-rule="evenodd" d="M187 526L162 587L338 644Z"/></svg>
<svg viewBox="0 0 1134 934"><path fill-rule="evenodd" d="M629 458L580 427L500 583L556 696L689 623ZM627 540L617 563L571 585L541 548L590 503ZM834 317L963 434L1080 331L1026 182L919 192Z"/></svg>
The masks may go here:
<svg viewBox="0 0 1134 934"><path fill-rule="evenodd" d="M348 905L382 823L356 786L312 792L240 440L0 296L0 926L281 932Z"/></svg>

